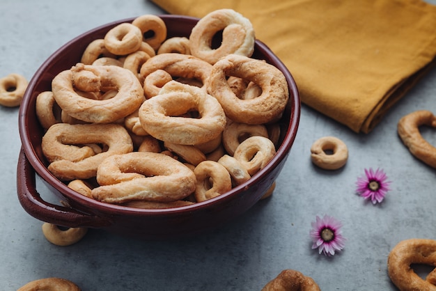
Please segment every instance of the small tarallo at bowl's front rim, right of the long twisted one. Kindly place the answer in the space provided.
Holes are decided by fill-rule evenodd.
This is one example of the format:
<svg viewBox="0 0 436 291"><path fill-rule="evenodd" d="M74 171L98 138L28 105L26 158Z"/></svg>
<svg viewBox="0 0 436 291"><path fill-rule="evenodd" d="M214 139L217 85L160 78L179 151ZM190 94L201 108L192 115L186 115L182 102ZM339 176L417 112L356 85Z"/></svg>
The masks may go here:
<svg viewBox="0 0 436 291"><path fill-rule="evenodd" d="M231 176L223 165L204 161L194 169L196 176L195 199L202 202L232 189ZM210 182L212 180L212 182Z"/></svg>

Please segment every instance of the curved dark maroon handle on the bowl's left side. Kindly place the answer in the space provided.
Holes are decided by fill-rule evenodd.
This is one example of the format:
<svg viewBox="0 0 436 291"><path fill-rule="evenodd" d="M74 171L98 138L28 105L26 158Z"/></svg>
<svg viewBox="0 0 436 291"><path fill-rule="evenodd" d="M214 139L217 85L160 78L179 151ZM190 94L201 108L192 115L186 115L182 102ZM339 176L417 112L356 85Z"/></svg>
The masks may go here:
<svg viewBox="0 0 436 291"><path fill-rule="evenodd" d="M54 205L42 200L36 191L36 172L27 159L24 150L20 150L17 164L17 194L24 210L41 221L70 228L102 228L110 226L109 219L79 212L70 207Z"/></svg>

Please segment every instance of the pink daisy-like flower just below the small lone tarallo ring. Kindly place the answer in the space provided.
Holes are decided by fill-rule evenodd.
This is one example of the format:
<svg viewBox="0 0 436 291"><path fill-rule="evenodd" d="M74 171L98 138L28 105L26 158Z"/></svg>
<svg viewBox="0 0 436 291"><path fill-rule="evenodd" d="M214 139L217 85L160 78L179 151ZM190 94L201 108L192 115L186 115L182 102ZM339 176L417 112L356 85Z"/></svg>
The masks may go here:
<svg viewBox="0 0 436 291"><path fill-rule="evenodd" d="M380 168L374 172L372 168L365 169L365 176L357 178L357 194L366 199L371 199L373 204L380 203L389 191L387 175Z"/></svg>

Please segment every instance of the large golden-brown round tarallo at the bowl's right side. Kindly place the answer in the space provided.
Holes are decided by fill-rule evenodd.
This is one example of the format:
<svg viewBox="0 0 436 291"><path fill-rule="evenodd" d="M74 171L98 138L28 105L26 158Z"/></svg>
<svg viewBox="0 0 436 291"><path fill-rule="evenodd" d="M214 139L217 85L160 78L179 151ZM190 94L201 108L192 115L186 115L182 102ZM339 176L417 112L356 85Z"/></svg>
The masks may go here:
<svg viewBox="0 0 436 291"><path fill-rule="evenodd" d="M227 76L253 81L262 88L262 94L254 99L239 99L228 84ZM207 88L226 116L237 123L262 124L277 120L289 98L286 78L279 69L265 61L236 54L221 58L212 66Z"/></svg>

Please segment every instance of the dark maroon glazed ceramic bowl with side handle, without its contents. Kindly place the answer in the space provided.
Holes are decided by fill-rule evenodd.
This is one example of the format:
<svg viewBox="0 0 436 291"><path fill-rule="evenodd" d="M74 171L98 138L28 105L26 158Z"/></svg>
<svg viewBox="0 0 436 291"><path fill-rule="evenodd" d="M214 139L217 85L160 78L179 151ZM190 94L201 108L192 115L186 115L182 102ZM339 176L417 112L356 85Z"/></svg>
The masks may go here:
<svg viewBox="0 0 436 291"><path fill-rule="evenodd" d="M168 37L189 37L198 21L196 18L160 15L166 23ZM290 99L281 118L281 146L265 168L249 181L233 188L226 194L202 203L167 209L137 209L101 203L68 188L47 170L47 160L42 155L41 139L44 134L36 117L36 97L42 91L51 90L54 76L68 70L81 58L92 40L103 38L109 29L123 19L100 26L71 40L58 49L38 69L29 82L20 107L19 128L22 150L17 164L17 194L26 212L41 221L65 227L102 228L120 235L141 239L166 239L194 235L210 230L234 219L252 207L272 186L286 162L295 140L300 114L300 100L295 81L288 69L262 42L256 41L253 58L264 59L279 68L286 77ZM36 175L48 185L52 193L63 200L54 205L44 200L36 189Z"/></svg>

